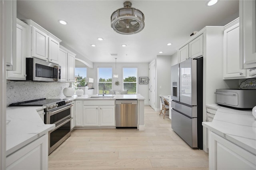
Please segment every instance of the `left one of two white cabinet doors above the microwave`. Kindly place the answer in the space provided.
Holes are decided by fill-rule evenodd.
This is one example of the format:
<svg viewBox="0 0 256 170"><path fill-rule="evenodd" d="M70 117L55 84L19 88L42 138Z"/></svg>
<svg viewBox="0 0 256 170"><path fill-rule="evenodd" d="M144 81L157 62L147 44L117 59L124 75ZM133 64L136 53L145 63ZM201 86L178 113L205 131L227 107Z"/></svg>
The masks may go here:
<svg viewBox="0 0 256 170"><path fill-rule="evenodd" d="M48 60L48 36L32 27L32 57Z"/></svg>

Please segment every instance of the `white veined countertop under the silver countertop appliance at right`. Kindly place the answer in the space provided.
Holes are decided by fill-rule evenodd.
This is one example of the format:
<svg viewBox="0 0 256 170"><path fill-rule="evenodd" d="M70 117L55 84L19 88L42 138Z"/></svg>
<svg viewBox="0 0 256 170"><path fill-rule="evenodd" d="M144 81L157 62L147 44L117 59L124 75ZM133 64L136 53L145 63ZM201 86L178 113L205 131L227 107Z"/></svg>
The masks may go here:
<svg viewBox="0 0 256 170"><path fill-rule="evenodd" d="M213 121L202 125L256 155L256 118L252 111L219 107Z"/></svg>

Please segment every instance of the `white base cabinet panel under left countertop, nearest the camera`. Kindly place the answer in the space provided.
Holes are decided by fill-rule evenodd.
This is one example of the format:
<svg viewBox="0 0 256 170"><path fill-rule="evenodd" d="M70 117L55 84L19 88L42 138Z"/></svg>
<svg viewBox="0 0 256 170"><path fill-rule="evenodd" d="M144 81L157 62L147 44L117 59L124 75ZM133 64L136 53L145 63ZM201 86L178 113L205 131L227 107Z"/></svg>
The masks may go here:
<svg viewBox="0 0 256 170"><path fill-rule="evenodd" d="M6 170L48 169L48 133L6 157Z"/></svg>

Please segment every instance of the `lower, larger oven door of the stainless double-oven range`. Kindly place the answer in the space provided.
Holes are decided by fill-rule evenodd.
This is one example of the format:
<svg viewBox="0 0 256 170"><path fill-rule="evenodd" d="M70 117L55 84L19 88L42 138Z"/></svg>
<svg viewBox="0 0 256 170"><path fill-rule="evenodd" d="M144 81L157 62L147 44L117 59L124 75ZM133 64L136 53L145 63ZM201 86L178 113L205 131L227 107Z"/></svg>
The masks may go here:
<svg viewBox="0 0 256 170"><path fill-rule="evenodd" d="M52 153L71 135L71 119L73 118L69 117L68 119L65 119L56 124L56 127L49 131L48 154Z"/></svg>

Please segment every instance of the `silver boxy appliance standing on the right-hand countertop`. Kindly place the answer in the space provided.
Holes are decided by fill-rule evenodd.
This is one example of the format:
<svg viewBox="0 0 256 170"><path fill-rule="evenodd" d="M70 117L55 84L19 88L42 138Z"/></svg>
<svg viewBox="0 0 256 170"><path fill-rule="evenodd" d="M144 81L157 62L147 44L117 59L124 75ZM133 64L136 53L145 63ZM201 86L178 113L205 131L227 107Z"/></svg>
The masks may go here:
<svg viewBox="0 0 256 170"><path fill-rule="evenodd" d="M251 110L256 106L256 90L216 89L216 103L232 109Z"/></svg>

